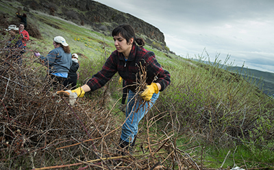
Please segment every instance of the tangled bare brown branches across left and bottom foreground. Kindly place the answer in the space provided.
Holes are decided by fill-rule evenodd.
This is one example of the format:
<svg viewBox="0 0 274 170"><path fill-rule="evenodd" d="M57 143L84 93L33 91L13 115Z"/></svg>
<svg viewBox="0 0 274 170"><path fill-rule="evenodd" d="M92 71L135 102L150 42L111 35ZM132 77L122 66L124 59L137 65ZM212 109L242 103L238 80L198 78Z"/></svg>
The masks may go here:
<svg viewBox="0 0 274 170"><path fill-rule="evenodd" d="M81 98L72 107L67 98L53 97L55 91L45 85L46 68L29 51L18 62L20 49L3 44L0 169L199 169L195 156L177 147L173 132L157 130L165 113L147 114L134 150L117 154L123 122L103 100Z"/></svg>

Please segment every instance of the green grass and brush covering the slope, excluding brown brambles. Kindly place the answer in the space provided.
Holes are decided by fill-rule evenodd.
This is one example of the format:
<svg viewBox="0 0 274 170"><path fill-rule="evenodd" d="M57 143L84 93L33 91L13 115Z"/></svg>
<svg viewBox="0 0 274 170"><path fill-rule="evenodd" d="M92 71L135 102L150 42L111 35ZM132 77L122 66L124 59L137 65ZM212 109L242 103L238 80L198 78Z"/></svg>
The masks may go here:
<svg viewBox="0 0 274 170"><path fill-rule="evenodd" d="M15 3L13 7L5 8L3 2L0 4L1 11L11 16L14 16L16 7L19 6ZM88 57L79 57L79 86L101 70L105 57L115 49L111 36L93 31L88 26L75 25L45 14L32 14L29 22L38 25L42 39L31 38L33 42L28 44L30 52L27 55L32 55L33 51L47 55L53 49L53 38L63 36L71 48L71 53L81 53ZM172 80L171 85L161 92L155 104L160 113L166 112L168 116L150 127L151 132L163 130L166 122L173 122L166 131L174 132L177 146L181 150L199 145L190 151L195 152L197 162L200 162L203 153L204 167L219 168L223 162L223 168L234 165L274 167L274 143L272 139L267 138L270 135L273 137L274 132L274 102L262 94L256 84L220 69L218 62L208 66L172 53L162 53L152 46L146 45L145 48L155 53L159 63L171 73ZM118 79L119 75L116 74L108 85L110 98L105 104L108 110L112 109L122 96ZM102 88L88 95L97 100L102 98L104 92L105 88ZM124 115L117 109L119 104L112 113L119 115L118 122L122 122ZM158 110L153 109L151 114L160 114ZM147 133L145 128L144 123L144 136ZM163 135L162 132L153 134L158 137ZM186 145L190 141L190 145ZM50 164L49 162L48 165Z"/></svg>

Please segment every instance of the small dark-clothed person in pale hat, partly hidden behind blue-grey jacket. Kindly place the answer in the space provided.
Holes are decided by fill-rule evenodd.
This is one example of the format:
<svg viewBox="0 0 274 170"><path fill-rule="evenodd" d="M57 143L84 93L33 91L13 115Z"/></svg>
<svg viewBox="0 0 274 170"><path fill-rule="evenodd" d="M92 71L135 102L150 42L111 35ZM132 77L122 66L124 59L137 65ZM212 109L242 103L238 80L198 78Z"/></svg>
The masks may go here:
<svg viewBox="0 0 274 170"><path fill-rule="evenodd" d="M79 68L78 55L76 53L73 53L72 61L73 61L73 65L71 65L71 68L69 69L68 79L64 81L63 85L66 88L68 88L69 85L71 85L71 89L76 89L77 78L78 78L77 70Z"/></svg>

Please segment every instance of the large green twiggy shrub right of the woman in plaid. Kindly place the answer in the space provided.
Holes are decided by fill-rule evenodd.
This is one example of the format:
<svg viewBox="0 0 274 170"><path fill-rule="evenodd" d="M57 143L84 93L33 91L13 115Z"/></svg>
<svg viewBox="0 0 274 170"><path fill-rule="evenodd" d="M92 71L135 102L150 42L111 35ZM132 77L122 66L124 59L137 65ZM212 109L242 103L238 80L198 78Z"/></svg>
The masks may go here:
<svg viewBox="0 0 274 170"><path fill-rule="evenodd" d="M171 70L172 83L157 104L171 115L163 121L173 122L178 133L187 129L199 133L208 143L266 142L274 134L273 98L219 64L182 63L181 68Z"/></svg>

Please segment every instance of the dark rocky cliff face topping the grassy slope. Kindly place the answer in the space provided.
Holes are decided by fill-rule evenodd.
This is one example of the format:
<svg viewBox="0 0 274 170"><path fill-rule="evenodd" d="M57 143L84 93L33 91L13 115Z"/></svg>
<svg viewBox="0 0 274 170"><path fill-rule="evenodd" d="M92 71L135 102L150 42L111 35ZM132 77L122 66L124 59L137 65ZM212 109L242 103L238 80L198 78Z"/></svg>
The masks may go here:
<svg viewBox="0 0 274 170"><path fill-rule="evenodd" d="M120 24L129 23L136 30L138 36L145 38L148 44L158 42L163 47L164 33L158 28L136 18L92 0L17 0L24 5L24 9L39 10L54 16L71 20L77 25L90 25L95 31L111 32Z"/></svg>

